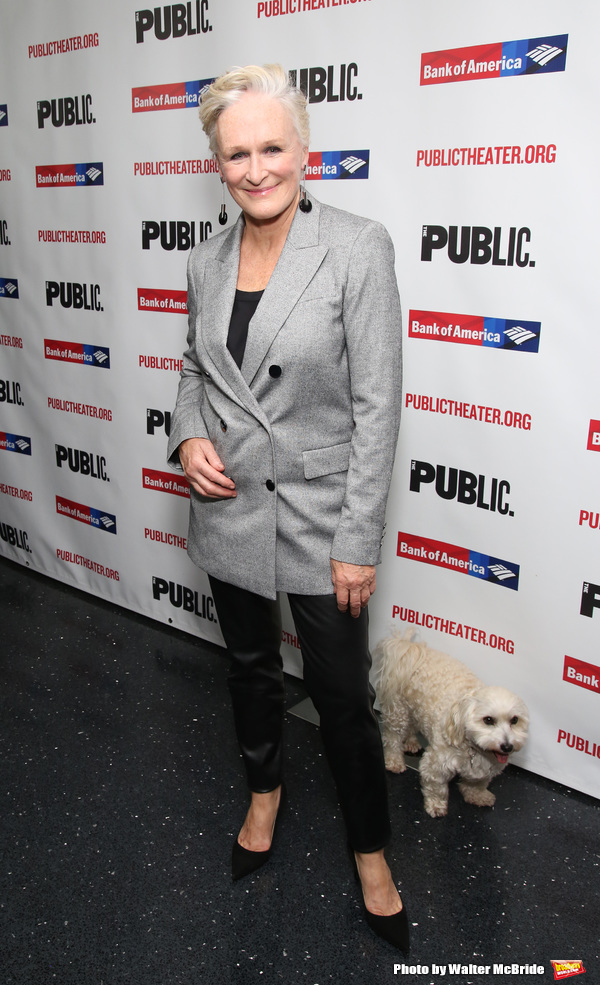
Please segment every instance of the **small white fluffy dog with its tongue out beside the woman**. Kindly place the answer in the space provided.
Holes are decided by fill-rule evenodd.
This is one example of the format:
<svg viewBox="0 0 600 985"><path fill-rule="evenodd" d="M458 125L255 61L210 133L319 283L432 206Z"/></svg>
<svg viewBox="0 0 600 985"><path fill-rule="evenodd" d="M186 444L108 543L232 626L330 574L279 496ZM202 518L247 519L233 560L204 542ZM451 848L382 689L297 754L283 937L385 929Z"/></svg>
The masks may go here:
<svg viewBox="0 0 600 985"><path fill-rule="evenodd" d="M428 742L419 766L427 813L448 813L448 784L457 775L468 804L491 807L496 798L488 784L527 738L524 702L504 687L486 687L460 660L406 637L383 640L375 660L387 769L404 772L404 753L420 750L421 732Z"/></svg>

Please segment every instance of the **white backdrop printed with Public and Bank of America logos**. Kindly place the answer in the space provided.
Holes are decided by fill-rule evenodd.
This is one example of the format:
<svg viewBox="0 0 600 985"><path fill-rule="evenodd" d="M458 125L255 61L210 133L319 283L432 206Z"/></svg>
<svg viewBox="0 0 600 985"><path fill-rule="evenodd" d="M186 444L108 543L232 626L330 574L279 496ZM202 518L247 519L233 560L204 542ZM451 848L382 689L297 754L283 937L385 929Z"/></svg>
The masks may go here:
<svg viewBox="0 0 600 985"><path fill-rule="evenodd" d="M196 111L225 68L280 61L310 101L310 190L397 250L404 419L373 642L412 627L517 691L516 761L600 796L600 11L0 6L2 553L221 642L165 464L186 255L220 229Z"/></svg>

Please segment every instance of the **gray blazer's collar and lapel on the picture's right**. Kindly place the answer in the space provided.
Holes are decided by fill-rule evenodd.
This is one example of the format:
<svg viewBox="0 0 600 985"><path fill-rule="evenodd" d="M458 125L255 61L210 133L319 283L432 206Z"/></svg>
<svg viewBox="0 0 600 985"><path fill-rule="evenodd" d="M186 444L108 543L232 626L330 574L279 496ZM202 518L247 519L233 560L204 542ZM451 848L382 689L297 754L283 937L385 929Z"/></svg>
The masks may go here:
<svg viewBox="0 0 600 985"><path fill-rule="evenodd" d="M250 322L242 362L242 376L248 386L327 254L328 248L319 245L319 212L314 199L310 212L296 212L281 256Z"/></svg>

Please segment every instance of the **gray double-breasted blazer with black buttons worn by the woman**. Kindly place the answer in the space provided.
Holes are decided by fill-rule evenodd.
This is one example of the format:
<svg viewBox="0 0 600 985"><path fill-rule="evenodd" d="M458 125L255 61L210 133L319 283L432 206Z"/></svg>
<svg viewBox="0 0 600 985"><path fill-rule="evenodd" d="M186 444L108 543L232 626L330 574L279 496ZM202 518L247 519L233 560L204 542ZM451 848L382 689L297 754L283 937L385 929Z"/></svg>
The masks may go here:
<svg viewBox="0 0 600 985"><path fill-rule="evenodd" d="M267 598L333 592L330 558L380 560L401 407L401 317L383 226L298 211L248 330L226 347L243 217L188 262L188 349L168 458L209 438L235 499L193 489L188 554Z"/></svg>

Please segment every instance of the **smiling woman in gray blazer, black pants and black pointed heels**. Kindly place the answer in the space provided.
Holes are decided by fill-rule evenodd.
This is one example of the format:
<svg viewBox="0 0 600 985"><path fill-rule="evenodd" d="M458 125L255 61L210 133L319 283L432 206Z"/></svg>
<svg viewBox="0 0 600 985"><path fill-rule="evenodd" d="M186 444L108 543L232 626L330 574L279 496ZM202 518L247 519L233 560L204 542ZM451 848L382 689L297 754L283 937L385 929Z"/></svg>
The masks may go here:
<svg viewBox="0 0 600 985"><path fill-rule="evenodd" d="M378 223L301 189L306 100L280 66L227 72L200 118L242 214L190 255L168 454L190 483L188 552L209 575L232 656L251 791L233 877L269 858L281 803L283 591L366 918L406 949L406 912L383 855L390 830L366 608L400 416L393 248Z"/></svg>

